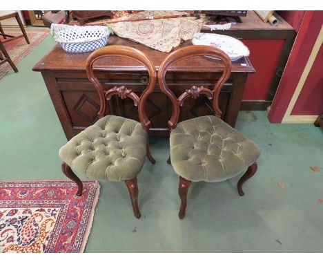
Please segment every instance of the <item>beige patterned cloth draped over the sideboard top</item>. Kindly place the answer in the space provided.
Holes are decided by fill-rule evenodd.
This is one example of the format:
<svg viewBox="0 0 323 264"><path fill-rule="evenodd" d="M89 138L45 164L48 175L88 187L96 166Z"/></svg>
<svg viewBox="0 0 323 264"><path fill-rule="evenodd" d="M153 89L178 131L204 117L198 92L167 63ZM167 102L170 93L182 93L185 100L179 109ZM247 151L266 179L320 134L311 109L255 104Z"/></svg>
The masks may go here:
<svg viewBox="0 0 323 264"><path fill-rule="evenodd" d="M192 39L194 33L203 26L202 19L179 17L172 19L153 19L142 21L124 21L110 23L112 30L119 37L131 39L155 50L169 53L179 46L182 39Z"/></svg>

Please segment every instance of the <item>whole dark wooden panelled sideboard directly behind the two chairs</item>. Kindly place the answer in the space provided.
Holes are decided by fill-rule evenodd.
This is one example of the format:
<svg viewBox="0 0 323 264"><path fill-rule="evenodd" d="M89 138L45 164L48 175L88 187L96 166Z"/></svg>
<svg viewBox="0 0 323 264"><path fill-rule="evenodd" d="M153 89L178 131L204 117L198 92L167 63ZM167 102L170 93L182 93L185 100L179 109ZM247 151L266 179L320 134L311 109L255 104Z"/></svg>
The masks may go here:
<svg viewBox="0 0 323 264"><path fill-rule="evenodd" d="M108 45L133 46L144 51L153 59L157 70L162 60L168 55L168 53L162 53L116 36L109 37ZM186 41L180 47L187 45L191 45L191 42ZM57 44L33 68L41 72L43 76L68 140L97 120L99 96L86 77L88 55L90 53L66 53ZM106 89L124 85L136 93L141 93L146 88L148 81L146 69L133 60L108 57L99 59L94 68ZM220 70L222 70L220 61L207 57L194 57L172 66L168 70L166 79L168 86L175 93L180 94L193 85L211 88L219 77ZM222 119L231 126L235 126L248 73L255 73L248 58L233 62L231 77L220 94ZM107 114L110 111L113 115L138 120L137 109L134 109L135 106L131 100L113 97L110 101L112 102L110 102L110 109L107 109ZM161 93L157 85L147 105L148 117L152 122L151 135L168 135L167 121L170 117L170 107L168 98ZM212 114L211 102L206 97L190 100L182 108L181 113L181 120L199 115L210 115Z"/></svg>

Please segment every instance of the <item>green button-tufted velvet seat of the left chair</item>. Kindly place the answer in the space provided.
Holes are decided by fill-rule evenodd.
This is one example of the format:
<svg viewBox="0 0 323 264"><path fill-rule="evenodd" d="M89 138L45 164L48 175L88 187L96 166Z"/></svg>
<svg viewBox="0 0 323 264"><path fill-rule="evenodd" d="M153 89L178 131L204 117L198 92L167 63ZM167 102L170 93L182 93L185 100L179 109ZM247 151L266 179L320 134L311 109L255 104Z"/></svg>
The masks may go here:
<svg viewBox="0 0 323 264"><path fill-rule="evenodd" d="M61 147L59 157L91 179L130 180L144 165L146 144L141 123L106 115Z"/></svg>

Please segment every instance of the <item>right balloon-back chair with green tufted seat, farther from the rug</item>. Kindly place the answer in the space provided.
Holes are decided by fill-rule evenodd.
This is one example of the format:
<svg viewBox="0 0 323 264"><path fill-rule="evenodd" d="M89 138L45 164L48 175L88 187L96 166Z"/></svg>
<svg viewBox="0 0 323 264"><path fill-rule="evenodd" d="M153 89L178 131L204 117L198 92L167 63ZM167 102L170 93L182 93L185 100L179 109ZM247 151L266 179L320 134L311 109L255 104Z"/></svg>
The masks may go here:
<svg viewBox="0 0 323 264"><path fill-rule="evenodd" d="M224 63L222 75L213 89L193 86L176 97L166 84L165 75L168 68L182 59L206 55L220 59ZM260 149L242 133L220 119L222 112L219 109L219 92L230 75L230 57L213 46L179 48L170 53L159 66L159 88L169 97L173 105L173 112L168 121L170 162L179 176L180 219L185 216L186 196L191 182L221 182L246 170L237 183L239 195L243 196L242 185L257 171L256 160L260 156ZM212 100L214 115L195 117L178 123L179 106L183 106L188 97L197 99L200 95Z"/></svg>

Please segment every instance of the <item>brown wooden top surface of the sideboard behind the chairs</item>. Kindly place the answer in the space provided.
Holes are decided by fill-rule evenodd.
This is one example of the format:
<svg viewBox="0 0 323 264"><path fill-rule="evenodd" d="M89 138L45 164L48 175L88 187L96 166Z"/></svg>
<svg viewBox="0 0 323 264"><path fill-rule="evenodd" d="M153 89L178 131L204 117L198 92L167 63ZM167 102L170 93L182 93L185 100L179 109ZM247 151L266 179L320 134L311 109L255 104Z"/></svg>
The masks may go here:
<svg viewBox="0 0 323 264"><path fill-rule="evenodd" d="M125 45L125 46L133 46L134 48L138 48L142 50L144 53L148 54L152 59L158 70L159 65L163 61L163 59L169 53L163 53L158 50L154 50L152 48L148 48L147 46L138 44L134 41L130 41L128 39L123 39L117 37L115 35L110 35L108 38L108 45ZM191 41L185 41L179 47L192 45ZM175 48L175 49L177 49ZM55 70L55 71L82 71L86 70L86 59L90 53L66 53L59 44L55 45L52 50L38 62L32 70L35 71L47 71L47 70ZM130 59L117 58L117 57L108 57L99 59L95 62L94 65L95 70L113 70L116 72L128 72L128 71L146 71L146 68ZM193 57L190 59L185 59L178 64L175 64L169 71L175 72L201 72L201 73L216 73L222 70L222 62L217 59L211 59L208 57ZM253 68L251 62L248 58L244 57L239 59L237 62L233 62L232 67L233 73L255 73L255 69Z"/></svg>

